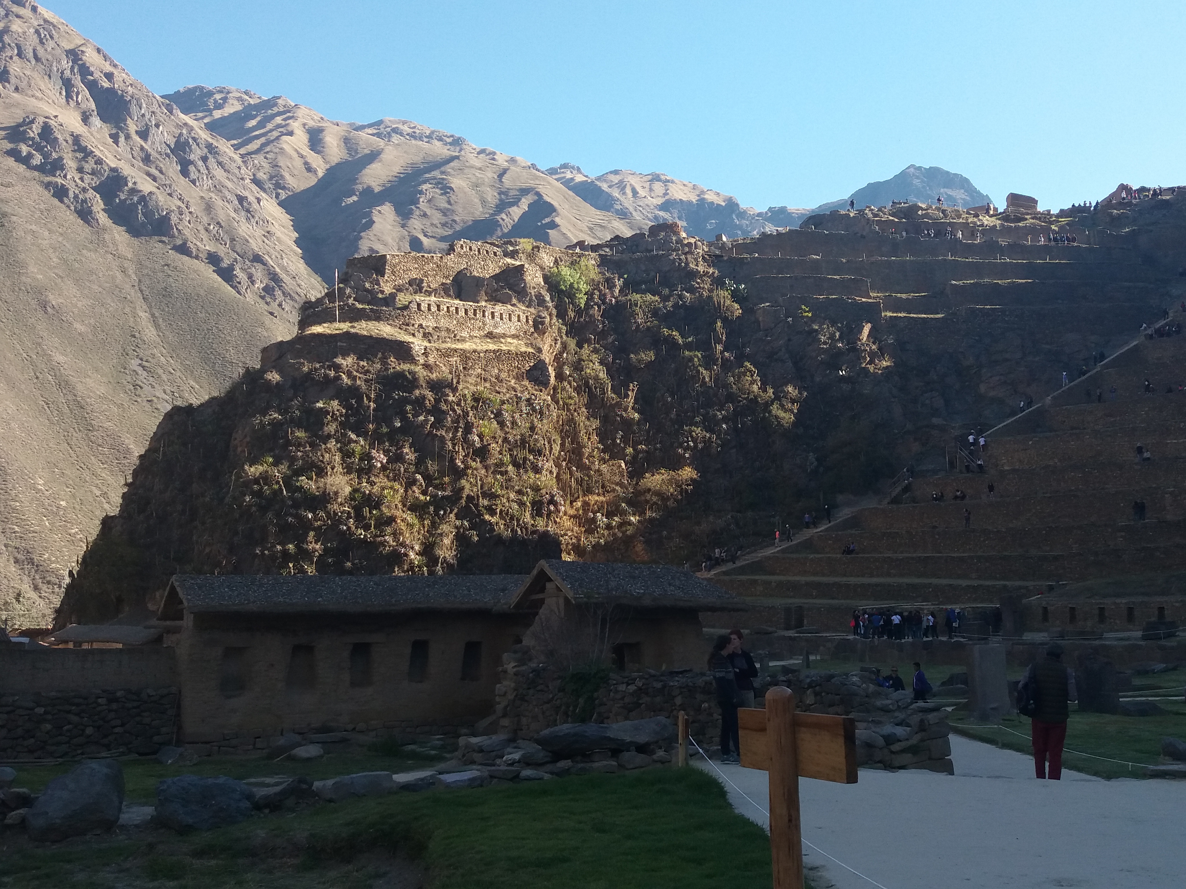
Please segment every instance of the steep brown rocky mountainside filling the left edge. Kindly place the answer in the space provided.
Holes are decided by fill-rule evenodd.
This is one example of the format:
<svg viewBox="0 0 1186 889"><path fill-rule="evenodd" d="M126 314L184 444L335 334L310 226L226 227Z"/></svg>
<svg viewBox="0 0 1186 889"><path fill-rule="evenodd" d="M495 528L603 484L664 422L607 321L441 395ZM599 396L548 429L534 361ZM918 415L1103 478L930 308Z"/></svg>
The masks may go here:
<svg viewBox="0 0 1186 889"><path fill-rule="evenodd" d="M223 140L0 0L0 620L47 620L161 414L320 289Z"/></svg>

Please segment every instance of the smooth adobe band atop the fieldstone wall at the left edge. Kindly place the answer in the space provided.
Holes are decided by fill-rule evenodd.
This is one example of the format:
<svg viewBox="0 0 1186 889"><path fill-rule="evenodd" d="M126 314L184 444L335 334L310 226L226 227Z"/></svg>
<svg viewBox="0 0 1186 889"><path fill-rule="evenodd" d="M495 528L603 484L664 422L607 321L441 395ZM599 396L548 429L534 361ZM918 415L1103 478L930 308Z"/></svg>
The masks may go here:
<svg viewBox="0 0 1186 889"><path fill-rule="evenodd" d="M167 646L132 648L33 648L0 646L0 695L177 685Z"/></svg>

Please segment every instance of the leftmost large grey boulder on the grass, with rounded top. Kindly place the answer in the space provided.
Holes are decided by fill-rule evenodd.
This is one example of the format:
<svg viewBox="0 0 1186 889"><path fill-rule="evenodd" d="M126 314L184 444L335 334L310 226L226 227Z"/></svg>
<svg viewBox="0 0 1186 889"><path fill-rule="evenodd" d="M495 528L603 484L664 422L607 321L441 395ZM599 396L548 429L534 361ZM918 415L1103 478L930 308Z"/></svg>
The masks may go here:
<svg viewBox="0 0 1186 889"><path fill-rule="evenodd" d="M88 760L55 778L25 816L39 843L111 830L123 810L123 768L115 760Z"/></svg>

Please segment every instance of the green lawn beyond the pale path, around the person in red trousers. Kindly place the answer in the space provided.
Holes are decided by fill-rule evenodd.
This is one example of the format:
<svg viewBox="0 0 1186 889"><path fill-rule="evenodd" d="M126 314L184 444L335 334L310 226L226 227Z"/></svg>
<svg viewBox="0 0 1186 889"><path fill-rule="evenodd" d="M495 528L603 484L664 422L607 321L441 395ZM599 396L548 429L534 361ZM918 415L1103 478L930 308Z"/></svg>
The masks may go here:
<svg viewBox="0 0 1186 889"><path fill-rule="evenodd" d="M1116 762L1105 762L1088 756L1079 756L1071 750L1107 756L1114 760L1126 760L1146 766L1161 763L1161 738L1172 735L1186 738L1186 704L1178 701L1159 701L1159 706L1167 711L1163 716L1110 716L1108 714L1079 712L1071 705L1071 718L1066 725L1066 752L1063 754L1063 766L1076 772L1085 772L1099 778L1144 778L1143 769ZM1024 716L1012 716L1002 719L1002 725L1019 731L1019 737L1002 728L969 729L962 723L973 722L968 712L957 709L951 714L954 731L977 741L995 743L1009 750L1032 753L1029 746L1029 719Z"/></svg>

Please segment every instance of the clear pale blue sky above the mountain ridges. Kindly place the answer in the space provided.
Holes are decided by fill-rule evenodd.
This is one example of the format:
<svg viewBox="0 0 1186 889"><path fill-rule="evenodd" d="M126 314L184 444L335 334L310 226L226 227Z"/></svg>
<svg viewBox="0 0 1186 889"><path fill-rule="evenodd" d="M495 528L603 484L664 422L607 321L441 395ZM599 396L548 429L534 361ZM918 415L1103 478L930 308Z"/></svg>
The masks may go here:
<svg viewBox="0 0 1186 889"><path fill-rule="evenodd" d="M907 164L1059 207L1186 184L1180 2L49 0L158 92L406 117L814 206Z"/></svg>

